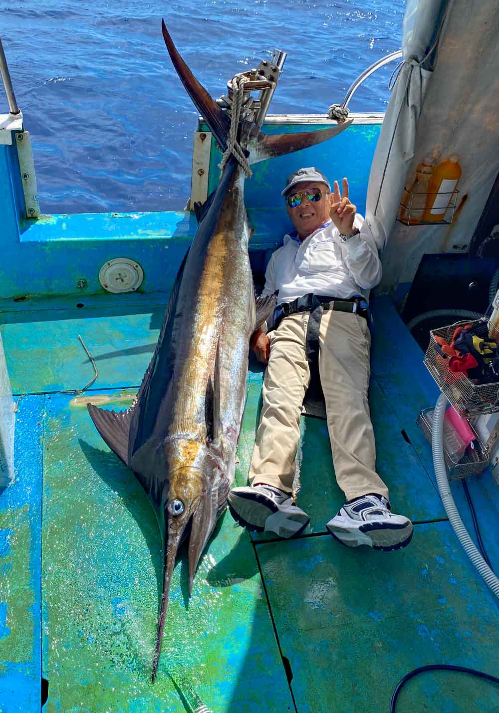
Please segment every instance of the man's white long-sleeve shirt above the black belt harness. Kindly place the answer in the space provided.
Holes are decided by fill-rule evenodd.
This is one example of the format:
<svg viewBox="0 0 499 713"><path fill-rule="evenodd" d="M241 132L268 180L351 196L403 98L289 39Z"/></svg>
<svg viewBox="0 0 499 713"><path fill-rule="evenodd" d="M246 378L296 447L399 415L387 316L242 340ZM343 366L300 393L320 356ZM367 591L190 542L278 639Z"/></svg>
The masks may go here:
<svg viewBox="0 0 499 713"><path fill-rule="evenodd" d="M354 228L360 235L341 242L339 230L329 220L305 240L296 233L284 235L284 245L269 260L262 294L279 291L277 302L291 302L314 292L328 297L366 294L381 281L381 262L371 229L361 215Z"/></svg>

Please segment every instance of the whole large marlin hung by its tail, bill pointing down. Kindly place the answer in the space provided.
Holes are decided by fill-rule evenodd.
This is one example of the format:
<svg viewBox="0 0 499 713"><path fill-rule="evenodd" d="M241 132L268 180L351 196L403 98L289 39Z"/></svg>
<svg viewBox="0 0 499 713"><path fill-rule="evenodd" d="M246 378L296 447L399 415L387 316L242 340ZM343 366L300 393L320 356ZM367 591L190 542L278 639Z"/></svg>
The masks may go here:
<svg viewBox="0 0 499 713"><path fill-rule="evenodd" d="M164 22L162 28L182 84L225 151L231 119L192 75ZM243 119L232 127L232 135L237 128L242 155L256 163L329 139L350 123L307 133L264 135L254 122ZM158 518L163 595L153 681L175 556L187 539L192 591L197 563L225 511L234 479L249 338L275 302L274 297L254 297L245 178L240 160L227 156L217 190L197 216L195 238L175 280L158 344L133 407L115 412L88 404L103 440L133 471Z"/></svg>

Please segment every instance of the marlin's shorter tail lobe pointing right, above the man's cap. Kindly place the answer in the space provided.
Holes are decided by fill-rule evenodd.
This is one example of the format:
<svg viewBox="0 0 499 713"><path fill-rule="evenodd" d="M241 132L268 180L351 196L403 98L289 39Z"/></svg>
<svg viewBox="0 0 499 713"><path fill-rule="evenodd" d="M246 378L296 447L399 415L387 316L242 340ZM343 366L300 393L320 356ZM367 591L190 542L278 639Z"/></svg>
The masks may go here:
<svg viewBox="0 0 499 713"><path fill-rule="evenodd" d="M248 141L249 163L258 163L258 161L264 161L267 158L275 158L284 155L284 153L292 153L314 146L341 133L349 127L352 121L353 119L347 119L328 129L300 133L264 134L260 131L256 136L252 135Z"/></svg>

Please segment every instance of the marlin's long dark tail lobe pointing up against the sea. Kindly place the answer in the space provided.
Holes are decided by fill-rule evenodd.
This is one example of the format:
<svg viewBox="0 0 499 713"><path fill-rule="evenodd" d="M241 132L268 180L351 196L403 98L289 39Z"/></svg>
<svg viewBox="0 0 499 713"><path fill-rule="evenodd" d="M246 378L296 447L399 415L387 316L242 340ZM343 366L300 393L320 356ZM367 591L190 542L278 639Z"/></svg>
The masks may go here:
<svg viewBox="0 0 499 713"><path fill-rule="evenodd" d="M182 84L187 90L187 94L195 103L195 106L210 127L210 130L215 134L218 145L225 151L227 148L227 136L230 130L230 120L222 112L220 106L213 101L202 84L197 81L185 61L183 61L166 29L164 20L161 21L161 29L163 31L166 48L168 49L168 53L170 53L173 66L180 77L180 81L182 81Z"/></svg>

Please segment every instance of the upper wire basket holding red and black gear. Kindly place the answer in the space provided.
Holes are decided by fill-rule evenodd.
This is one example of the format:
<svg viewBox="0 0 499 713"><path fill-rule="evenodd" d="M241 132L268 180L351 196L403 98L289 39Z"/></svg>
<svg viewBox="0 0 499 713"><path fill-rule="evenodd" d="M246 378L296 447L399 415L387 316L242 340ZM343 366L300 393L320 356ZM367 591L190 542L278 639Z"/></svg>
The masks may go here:
<svg viewBox="0 0 499 713"><path fill-rule="evenodd" d="M443 337L448 344L451 344L456 327L460 324L478 324L487 320L475 319L475 321L456 322L448 327L432 329L430 343L426 349L424 363L433 379L437 382L440 390L447 396L448 401L456 408L456 411L467 415L493 414L499 411L499 383L495 384L473 384L468 376L463 373L449 371L448 359L442 356L440 347L435 337ZM499 342L499 332L488 322L490 339Z"/></svg>

